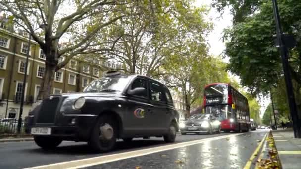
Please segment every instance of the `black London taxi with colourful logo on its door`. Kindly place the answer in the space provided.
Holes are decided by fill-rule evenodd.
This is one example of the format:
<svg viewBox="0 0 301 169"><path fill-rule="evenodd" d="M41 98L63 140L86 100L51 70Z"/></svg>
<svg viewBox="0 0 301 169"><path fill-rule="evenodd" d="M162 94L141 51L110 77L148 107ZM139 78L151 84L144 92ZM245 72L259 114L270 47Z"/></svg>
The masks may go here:
<svg viewBox="0 0 301 169"><path fill-rule="evenodd" d="M44 149L63 140L86 141L97 152L117 139L163 137L174 142L179 114L168 88L141 75L108 72L81 93L49 95L26 117L25 130Z"/></svg>

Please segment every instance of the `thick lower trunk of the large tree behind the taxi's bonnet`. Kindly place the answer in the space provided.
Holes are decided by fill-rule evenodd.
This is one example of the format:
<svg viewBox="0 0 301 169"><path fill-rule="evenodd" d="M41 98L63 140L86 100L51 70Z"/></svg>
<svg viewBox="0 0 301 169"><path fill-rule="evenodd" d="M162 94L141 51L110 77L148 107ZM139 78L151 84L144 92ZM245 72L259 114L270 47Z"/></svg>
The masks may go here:
<svg viewBox="0 0 301 169"><path fill-rule="evenodd" d="M48 97L49 94L51 94L55 68L56 66L54 66L54 64L46 64L43 80L41 82L41 87L38 95L38 97L41 99L45 99Z"/></svg>

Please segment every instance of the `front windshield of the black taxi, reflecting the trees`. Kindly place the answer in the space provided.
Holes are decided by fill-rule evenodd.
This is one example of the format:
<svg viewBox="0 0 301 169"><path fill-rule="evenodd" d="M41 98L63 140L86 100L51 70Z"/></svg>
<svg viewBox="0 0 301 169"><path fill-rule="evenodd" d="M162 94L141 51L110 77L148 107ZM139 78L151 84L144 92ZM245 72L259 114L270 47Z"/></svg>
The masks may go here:
<svg viewBox="0 0 301 169"><path fill-rule="evenodd" d="M130 82L129 76L105 77L92 81L84 92L120 92Z"/></svg>

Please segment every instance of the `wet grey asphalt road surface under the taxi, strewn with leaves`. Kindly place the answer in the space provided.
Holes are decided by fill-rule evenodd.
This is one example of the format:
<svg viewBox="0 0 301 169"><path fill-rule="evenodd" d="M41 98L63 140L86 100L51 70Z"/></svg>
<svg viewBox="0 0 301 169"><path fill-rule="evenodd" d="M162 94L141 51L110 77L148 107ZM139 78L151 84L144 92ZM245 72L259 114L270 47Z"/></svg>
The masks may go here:
<svg viewBox="0 0 301 169"><path fill-rule="evenodd" d="M200 144L172 149L145 156L119 160L85 169L242 169L268 130L205 141ZM213 135L177 135L176 143L234 133ZM134 139L126 144L118 141L110 153L95 154L87 143L63 142L54 150L45 151L29 142L0 143L0 169L21 169L71 160L117 154L133 150L168 145L162 138Z"/></svg>

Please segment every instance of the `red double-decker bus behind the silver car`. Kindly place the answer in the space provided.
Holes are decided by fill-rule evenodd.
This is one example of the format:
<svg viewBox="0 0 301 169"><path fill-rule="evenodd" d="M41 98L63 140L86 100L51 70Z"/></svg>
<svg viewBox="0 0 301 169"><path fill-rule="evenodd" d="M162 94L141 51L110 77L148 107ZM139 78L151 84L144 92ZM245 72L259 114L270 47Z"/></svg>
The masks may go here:
<svg viewBox="0 0 301 169"><path fill-rule="evenodd" d="M221 122L225 132L248 132L250 112L248 99L230 84L209 84L204 90L203 107L205 113L213 114Z"/></svg>

